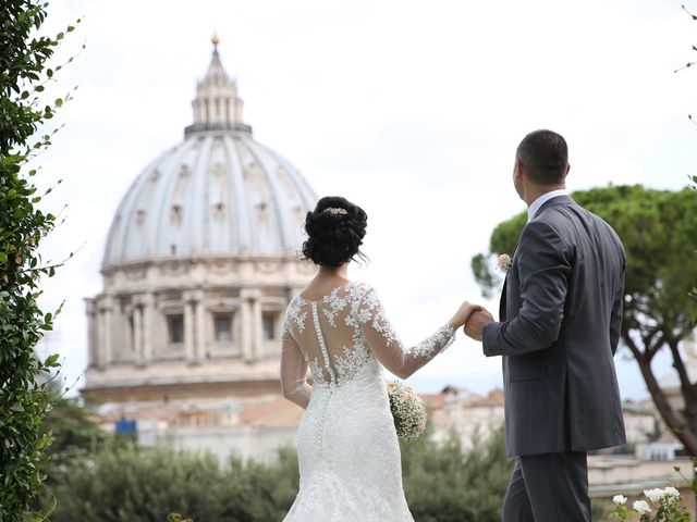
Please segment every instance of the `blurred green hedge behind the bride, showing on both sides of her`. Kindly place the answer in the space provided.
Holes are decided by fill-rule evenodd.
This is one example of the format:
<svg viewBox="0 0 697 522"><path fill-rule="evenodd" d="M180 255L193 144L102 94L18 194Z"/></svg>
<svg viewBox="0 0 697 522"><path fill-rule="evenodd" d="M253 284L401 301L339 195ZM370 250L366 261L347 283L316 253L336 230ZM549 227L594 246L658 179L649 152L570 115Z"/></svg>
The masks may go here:
<svg viewBox="0 0 697 522"><path fill-rule="evenodd" d="M295 451L274 462L231 458L225 467L210 455L138 448L107 442L76 455L56 471L58 506L51 521L161 522L168 513L194 521L281 521L298 489ZM402 445L404 487L419 522L494 522L512 462L502 430L464 449L453 434L439 445L421 437ZM50 506L52 499L46 499Z"/></svg>

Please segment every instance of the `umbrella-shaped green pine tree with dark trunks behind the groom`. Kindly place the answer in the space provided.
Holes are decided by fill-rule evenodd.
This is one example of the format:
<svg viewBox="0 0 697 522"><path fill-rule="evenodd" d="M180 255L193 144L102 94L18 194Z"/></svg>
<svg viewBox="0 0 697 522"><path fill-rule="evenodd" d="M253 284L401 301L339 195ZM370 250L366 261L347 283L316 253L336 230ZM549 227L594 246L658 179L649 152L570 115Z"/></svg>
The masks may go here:
<svg viewBox="0 0 697 522"><path fill-rule="evenodd" d="M636 359L663 421L692 456L697 456L697 384L689 381L678 343L694 327L695 301L689 291L697 281L695 231L697 194L652 190L639 185L609 186L578 191L573 198L600 215L617 232L627 256L622 340ZM515 250L526 213L499 224L490 253L473 259L475 277L491 291L494 253ZM675 410L651 368L659 350L668 350L680 377L684 409Z"/></svg>

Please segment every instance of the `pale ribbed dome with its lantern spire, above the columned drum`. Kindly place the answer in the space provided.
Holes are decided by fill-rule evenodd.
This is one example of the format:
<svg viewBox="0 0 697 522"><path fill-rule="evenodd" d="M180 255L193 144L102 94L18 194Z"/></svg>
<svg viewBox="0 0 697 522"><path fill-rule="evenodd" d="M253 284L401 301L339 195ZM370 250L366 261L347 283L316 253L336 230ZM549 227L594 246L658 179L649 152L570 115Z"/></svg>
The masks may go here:
<svg viewBox="0 0 697 522"><path fill-rule="evenodd" d="M217 42L216 42L217 44ZM111 224L102 269L157 259L284 256L317 201L305 178L255 141L217 48L184 141L133 182Z"/></svg>

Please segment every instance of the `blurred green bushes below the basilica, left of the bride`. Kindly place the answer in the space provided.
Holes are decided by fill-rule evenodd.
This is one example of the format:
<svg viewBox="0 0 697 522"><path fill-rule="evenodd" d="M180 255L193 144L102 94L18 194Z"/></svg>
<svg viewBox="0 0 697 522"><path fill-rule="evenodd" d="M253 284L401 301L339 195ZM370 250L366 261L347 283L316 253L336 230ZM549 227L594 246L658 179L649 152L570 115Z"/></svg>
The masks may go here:
<svg viewBox="0 0 697 522"><path fill-rule="evenodd" d="M171 512L196 521L268 522L283 519L298 487L289 449L273 463L233 457L223 469L210 453L115 440L74 458L54 478L53 522L161 522Z"/></svg>

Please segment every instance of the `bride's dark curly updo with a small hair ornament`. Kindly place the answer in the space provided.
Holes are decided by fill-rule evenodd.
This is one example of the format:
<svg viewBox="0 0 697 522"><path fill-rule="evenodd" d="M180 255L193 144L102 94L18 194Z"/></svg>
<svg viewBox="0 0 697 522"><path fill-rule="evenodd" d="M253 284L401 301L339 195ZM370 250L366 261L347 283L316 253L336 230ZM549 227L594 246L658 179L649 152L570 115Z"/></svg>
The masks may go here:
<svg viewBox="0 0 697 522"><path fill-rule="evenodd" d="M360 245L366 235L368 216L346 198L328 196L317 202L305 217L307 240L303 257L315 264L341 266L355 256L365 259Z"/></svg>

